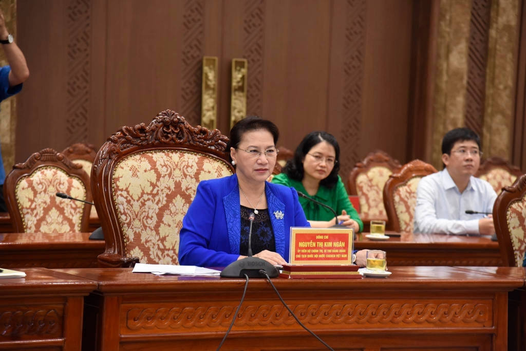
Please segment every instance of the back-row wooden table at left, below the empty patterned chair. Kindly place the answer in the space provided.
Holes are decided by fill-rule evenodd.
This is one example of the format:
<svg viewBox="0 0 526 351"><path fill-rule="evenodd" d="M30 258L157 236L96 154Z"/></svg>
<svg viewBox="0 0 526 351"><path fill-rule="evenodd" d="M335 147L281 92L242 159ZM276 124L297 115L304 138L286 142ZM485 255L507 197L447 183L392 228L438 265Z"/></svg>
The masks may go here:
<svg viewBox="0 0 526 351"><path fill-rule="evenodd" d="M0 267L89 268L106 249L104 240L90 233L0 234Z"/></svg>

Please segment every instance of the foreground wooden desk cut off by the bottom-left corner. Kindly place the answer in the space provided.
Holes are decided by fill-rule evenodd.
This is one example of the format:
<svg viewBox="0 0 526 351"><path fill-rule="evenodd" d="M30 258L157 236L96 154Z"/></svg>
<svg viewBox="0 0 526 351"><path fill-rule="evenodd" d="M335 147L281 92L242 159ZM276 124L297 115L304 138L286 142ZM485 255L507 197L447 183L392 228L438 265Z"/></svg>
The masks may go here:
<svg viewBox="0 0 526 351"><path fill-rule="evenodd" d="M92 280L45 268L0 279L0 349L80 350L84 297Z"/></svg>

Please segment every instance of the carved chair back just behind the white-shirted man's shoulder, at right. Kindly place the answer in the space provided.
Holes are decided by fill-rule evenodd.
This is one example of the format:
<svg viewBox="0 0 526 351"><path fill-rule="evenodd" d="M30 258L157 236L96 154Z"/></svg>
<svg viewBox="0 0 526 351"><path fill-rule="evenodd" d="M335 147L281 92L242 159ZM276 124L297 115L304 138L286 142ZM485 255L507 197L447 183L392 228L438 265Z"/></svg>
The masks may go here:
<svg viewBox="0 0 526 351"><path fill-rule="evenodd" d="M491 184L495 193L500 194L502 188L511 186L517 177L523 173L517 166L500 157L490 157L483 160L475 176Z"/></svg>

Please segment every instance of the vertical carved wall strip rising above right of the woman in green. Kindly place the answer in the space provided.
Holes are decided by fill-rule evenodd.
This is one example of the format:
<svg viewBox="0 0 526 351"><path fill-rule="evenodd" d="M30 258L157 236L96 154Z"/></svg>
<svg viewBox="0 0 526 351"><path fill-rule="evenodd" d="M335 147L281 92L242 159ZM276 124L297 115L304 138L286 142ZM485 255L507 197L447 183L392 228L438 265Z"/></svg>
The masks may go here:
<svg viewBox="0 0 526 351"><path fill-rule="evenodd" d="M340 137L340 174L349 174L360 161L358 146L362 119L363 77L365 75L365 0L347 0L345 62L343 63L343 106Z"/></svg>

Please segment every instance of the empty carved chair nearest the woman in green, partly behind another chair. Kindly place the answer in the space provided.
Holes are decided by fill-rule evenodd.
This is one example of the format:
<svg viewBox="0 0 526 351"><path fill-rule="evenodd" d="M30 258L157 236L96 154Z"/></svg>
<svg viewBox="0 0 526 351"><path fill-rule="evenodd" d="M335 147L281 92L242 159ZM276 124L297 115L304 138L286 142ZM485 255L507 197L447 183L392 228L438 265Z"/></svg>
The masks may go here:
<svg viewBox="0 0 526 351"><path fill-rule="evenodd" d="M369 219L387 219L383 206L383 187L393 173L400 171L402 166L383 151L375 151L367 155L352 169L349 179L349 195L357 195L360 201L360 211Z"/></svg>

